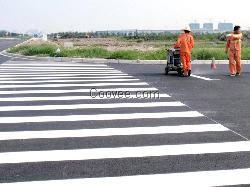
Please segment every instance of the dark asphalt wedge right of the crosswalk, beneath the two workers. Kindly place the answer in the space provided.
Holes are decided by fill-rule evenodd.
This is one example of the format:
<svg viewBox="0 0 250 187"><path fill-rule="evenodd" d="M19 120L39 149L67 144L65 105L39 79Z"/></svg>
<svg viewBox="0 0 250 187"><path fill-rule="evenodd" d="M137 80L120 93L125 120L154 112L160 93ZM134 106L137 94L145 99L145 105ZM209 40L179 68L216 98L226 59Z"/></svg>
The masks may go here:
<svg viewBox="0 0 250 187"><path fill-rule="evenodd" d="M164 65L115 65L124 72L150 83L192 109L250 139L250 65L240 77L229 77L227 65L193 65L193 73L206 78L180 78L164 75Z"/></svg>

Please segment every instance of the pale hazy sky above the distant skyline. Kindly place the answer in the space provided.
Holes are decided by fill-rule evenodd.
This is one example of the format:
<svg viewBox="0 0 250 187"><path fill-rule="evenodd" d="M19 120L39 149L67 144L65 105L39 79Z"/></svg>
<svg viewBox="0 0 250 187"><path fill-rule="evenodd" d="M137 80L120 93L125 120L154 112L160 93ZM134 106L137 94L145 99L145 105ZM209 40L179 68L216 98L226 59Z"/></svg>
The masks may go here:
<svg viewBox="0 0 250 187"><path fill-rule="evenodd" d="M181 29L190 22L250 28L249 0L0 0L0 30L46 33Z"/></svg>

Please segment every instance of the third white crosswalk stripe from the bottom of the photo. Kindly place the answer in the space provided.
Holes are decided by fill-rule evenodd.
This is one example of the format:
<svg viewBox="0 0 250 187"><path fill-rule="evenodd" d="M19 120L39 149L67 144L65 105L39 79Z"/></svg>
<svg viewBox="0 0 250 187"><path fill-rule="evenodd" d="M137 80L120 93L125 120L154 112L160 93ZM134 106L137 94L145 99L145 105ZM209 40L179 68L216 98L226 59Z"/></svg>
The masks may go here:
<svg viewBox="0 0 250 187"><path fill-rule="evenodd" d="M181 134L196 132L223 132L229 131L220 124L200 124L181 126L157 126L157 127L129 127L106 129L77 129L77 130L50 130L50 131L17 131L0 132L0 140L25 140L48 138L86 138L105 136L131 136L148 134Z"/></svg>

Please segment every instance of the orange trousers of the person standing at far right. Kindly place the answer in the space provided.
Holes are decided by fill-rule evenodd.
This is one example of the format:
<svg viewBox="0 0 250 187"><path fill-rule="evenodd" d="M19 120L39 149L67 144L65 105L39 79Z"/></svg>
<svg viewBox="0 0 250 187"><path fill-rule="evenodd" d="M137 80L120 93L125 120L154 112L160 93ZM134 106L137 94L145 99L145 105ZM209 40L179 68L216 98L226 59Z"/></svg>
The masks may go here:
<svg viewBox="0 0 250 187"><path fill-rule="evenodd" d="M229 51L229 71L231 74L241 73L241 51Z"/></svg>

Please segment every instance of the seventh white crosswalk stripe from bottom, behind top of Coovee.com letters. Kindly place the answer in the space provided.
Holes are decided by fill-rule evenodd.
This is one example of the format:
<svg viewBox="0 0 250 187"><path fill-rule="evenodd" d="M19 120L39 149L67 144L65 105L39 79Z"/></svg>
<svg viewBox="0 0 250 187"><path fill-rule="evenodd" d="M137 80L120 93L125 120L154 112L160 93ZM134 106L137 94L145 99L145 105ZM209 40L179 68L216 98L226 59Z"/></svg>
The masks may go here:
<svg viewBox="0 0 250 187"><path fill-rule="evenodd" d="M141 92L141 91L158 91L156 88L109 88L109 89L98 89L97 92ZM74 89L74 90L18 90L18 91L0 91L0 95L10 95L10 94L50 94L50 93L90 93L90 89Z"/></svg>

